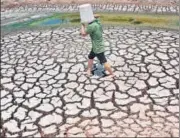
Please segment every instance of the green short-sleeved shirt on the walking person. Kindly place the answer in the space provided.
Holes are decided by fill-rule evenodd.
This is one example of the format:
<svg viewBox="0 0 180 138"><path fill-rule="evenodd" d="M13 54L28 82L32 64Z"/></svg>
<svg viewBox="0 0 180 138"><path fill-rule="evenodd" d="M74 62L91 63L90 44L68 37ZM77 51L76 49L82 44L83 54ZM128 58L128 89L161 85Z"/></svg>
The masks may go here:
<svg viewBox="0 0 180 138"><path fill-rule="evenodd" d="M99 20L96 19L88 24L86 32L90 34L93 52L96 54L104 52L103 30Z"/></svg>

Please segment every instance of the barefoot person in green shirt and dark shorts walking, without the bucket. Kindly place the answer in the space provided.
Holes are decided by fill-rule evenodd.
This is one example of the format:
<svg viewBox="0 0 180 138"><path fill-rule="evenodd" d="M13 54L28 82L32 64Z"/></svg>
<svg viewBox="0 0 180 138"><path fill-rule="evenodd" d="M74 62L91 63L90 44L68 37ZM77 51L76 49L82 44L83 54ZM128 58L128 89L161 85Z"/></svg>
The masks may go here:
<svg viewBox="0 0 180 138"><path fill-rule="evenodd" d="M94 58L97 57L101 64L104 65L105 70L107 70L110 74L109 77L114 77L114 73L111 69L111 66L107 62L107 59L104 55L105 48L104 48L104 41L103 41L103 30L102 25L98 20L99 15L94 15L95 19L91 22L88 22L87 27L85 24L82 23L81 26L81 35L86 36L90 35L92 41L92 49L88 56L88 69L87 74L91 75L91 70L93 66Z"/></svg>

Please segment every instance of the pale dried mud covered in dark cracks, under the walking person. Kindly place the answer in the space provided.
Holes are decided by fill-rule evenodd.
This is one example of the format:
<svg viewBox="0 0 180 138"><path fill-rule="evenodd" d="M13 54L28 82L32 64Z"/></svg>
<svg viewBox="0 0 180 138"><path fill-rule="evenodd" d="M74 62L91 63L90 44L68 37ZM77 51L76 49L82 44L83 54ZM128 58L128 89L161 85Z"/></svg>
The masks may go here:
<svg viewBox="0 0 180 138"><path fill-rule="evenodd" d="M83 75L91 41L79 28L2 36L7 137L178 137L178 32L107 27L103 35L114 80L101 77L97 60L95 75Z"/></svg>

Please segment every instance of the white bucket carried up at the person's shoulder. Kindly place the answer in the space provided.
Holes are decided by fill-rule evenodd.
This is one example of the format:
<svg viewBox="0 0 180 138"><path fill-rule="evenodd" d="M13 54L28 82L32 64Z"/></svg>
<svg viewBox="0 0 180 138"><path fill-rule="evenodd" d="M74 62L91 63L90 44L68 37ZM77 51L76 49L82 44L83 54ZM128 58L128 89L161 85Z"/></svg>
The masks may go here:
<svg viewBox="0 0 180 138"><path fill-rule="evenodd" d="M80 5L79 11L80 11L81 23L90 23L95 19L91 4Z"/></svg>

